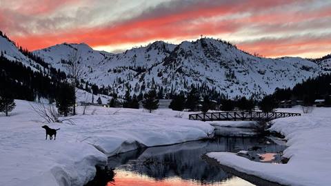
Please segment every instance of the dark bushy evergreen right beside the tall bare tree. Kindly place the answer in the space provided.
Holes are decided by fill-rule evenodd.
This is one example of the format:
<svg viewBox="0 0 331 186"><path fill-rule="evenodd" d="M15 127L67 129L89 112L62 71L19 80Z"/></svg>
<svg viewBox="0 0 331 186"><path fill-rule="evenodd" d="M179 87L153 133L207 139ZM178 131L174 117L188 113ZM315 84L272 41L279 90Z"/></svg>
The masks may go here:
<svg viewBox="0 0 331 186"><path fill-rule="evenodd" d="M57 110L59 114L68 116L72 112L72 105L75 102L75 88L70 84L63 84L60 87L59 95L57 96Z"/></svg>

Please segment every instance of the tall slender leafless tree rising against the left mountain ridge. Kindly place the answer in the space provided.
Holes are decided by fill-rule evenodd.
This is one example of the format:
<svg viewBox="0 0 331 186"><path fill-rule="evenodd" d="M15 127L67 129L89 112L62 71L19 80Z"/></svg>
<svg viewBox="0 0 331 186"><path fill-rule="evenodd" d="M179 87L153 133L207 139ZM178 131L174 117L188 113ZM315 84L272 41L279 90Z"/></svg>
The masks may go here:
<svg viewBox="0 0 331 186"><path fill-rule="evenodd" d="M79 62L79 52L77 49L72 50L72 52L68 56L68 65L66 65L66 70L68 76L71 79L71 84L74 87L74 104L72 115L76 115L76 100L77 100L77 84L81 80L83 76L83 65Z"/></svg>

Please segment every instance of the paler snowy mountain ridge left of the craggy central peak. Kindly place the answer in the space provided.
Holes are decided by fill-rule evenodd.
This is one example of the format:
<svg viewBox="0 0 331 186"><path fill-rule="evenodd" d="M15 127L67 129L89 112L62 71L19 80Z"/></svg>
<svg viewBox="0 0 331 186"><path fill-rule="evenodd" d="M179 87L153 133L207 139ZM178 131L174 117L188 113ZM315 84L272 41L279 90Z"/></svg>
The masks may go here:
<svg viewBox="0 0 331 186"><path fill-rule="evenodd" d="M66 70L66 61L70 54L77 51L79 62L83 64L83 78L90 83L117 86L122 81L130 81L138 74L139 68L148 69L161 63L174 45L162 41L152 43L143 48L128 50L123 54L92 50L85 43L54 45L50 48L34 51L54 68ZM130 68L130 69L129 69ZM113 85L117 83L116 85Z"/></svg>

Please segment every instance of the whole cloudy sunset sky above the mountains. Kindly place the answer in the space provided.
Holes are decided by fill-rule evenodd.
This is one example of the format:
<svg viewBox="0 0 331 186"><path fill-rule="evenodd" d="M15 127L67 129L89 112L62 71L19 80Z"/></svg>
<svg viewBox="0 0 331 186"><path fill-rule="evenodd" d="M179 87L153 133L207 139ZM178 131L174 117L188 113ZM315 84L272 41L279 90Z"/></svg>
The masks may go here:
<svg viewBox="0 0 331 186"><path fill-rule="evenodd" d="M331 53L331 1L0 0L0 30L28 50L66 42L118 53L202 35L261 56L314 58Z"/></svg>

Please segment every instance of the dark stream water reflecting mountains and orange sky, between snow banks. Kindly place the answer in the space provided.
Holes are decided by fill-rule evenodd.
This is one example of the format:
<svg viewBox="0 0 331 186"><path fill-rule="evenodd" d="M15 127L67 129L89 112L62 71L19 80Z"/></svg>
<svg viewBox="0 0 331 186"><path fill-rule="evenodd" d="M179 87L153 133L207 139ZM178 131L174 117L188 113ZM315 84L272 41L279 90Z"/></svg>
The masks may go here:
<svg viewBox="0 0 331 186"><path fill-rule="evenodd" d="M108 172L98 171L88 185L252 185L209 165L206 152L234 152L252 161L281 163L285 145L268 138L216 137L177 145L137 149L108 158Z"/></svg>

